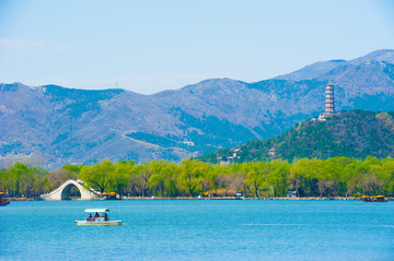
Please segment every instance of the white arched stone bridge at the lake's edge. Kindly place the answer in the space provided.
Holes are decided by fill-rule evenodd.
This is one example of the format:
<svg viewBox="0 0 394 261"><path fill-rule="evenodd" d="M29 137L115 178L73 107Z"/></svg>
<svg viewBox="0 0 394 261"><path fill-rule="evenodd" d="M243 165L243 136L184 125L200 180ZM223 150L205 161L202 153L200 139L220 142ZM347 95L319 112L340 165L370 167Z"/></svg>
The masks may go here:
<svg viewBox="0 0 394 261"><path fill-rule="evenodd" d="M42 200L69 200L70 199L70 192L72 187L77 187L79 191L81 192L81 200L95 200L99 199L99 194L96 191L88 190L82 187L83 181L82 180L74 180L70 179L67 180L65 183L62 183L59 188L56 190L42 194L39 198Z"/></svg>

